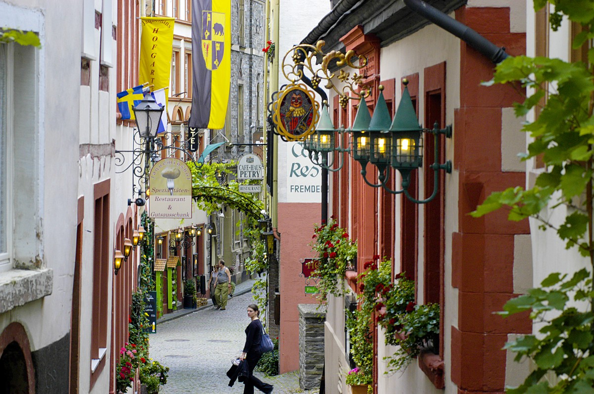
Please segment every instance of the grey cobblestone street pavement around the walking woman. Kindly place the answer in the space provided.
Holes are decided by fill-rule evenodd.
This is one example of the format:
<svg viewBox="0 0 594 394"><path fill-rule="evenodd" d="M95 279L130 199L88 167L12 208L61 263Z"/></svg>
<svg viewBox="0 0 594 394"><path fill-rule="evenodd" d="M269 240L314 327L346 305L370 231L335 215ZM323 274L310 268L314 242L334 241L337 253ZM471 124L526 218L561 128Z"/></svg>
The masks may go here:
<svg viewBox="0 0 594 394"><path fill-rule="evenodd" d="M150 356L170 368L167 384L159 393L242 393L244 385L235 382L229 387L225 373L244 347L249 323L246 308L253 302L250 292L237 294L229 298L226 310L209 306L157 325L157 332L150 336ZM318 392L301 390L296 372L270 377L255 374L274 385L274 394Z"/></svg>

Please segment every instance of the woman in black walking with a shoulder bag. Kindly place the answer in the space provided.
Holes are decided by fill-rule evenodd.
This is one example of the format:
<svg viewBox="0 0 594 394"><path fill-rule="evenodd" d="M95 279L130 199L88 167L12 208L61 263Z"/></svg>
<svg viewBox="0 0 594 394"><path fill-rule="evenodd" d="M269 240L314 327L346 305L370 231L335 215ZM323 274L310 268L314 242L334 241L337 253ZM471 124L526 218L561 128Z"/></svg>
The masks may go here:
<svg viewBox="0 0 594 394"><path fill-rule="evenodd" d="M260 310L256 304L248 305L248 317L252 319L247 328L245 329L245 346L244 351L239 357L240 360L245 360L249 367L249 379L245 380L244 394L254 394L254 387L263 393L271 393L272 385L262 382L260 379L254 376L254 368L262 352L260 351L260 342L262 341L262 332L264 331L262 323L260 322Z"/></svg>

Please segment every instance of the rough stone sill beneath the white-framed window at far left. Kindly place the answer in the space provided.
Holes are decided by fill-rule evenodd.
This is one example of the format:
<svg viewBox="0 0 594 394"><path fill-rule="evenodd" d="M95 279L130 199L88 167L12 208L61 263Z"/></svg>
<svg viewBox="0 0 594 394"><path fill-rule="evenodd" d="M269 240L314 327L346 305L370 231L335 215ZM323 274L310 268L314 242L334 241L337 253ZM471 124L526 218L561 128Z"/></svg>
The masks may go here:
<svg viewBox="0 0 594 394"><path fill-rule="evenodd" d="M53 270L11 269L0 272L0 313L52 294Z"/></svg>

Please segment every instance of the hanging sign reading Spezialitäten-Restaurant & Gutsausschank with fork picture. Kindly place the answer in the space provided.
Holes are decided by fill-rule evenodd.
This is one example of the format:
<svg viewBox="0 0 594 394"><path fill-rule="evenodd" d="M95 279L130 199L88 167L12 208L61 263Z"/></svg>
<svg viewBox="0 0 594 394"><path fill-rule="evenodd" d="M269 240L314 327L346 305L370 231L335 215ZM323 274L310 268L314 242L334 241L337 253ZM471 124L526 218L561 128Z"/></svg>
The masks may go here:
<svg viewBox="0 0 594 394"><path fill-rule="evenodd" d="M149 185L149 217L192 217L192 173L184 161L175 157L157 161Z"/></svg>

